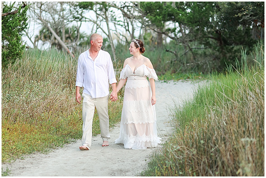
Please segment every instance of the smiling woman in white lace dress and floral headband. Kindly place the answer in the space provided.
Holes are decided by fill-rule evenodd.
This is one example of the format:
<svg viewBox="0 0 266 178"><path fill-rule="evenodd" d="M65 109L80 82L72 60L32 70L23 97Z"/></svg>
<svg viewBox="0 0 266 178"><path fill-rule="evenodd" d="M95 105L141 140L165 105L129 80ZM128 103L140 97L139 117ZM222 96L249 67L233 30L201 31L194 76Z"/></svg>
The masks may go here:
<svg viewBox="0 0 266 178"><path fill-rule="evenodd" d="M154 148L160 143L157 137L155 113L155 82L158 80L151 61L142 55L143 42L132 40L130 54L124 62L120 74L117 92L125 86L124 102L120 123L120 136L117 144L124 144L125 149ZM149 82L147 80L149 78Z"/></svg>

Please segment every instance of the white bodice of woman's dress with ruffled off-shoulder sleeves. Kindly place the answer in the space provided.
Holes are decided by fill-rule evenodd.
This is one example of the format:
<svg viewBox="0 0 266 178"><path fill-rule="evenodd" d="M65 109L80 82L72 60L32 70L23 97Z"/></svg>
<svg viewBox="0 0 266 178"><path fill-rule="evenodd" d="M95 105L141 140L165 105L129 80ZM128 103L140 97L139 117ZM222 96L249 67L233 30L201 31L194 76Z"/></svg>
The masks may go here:
<svg viewBox="0 0 266 178"><path fill-rule="evenodd" d="M138 68L133 71L131 67L127 64L120 73L120 79L128 79L128 80L143 80L143 79L153 78L158 80L158 76L154 69L148 68L146 65L142 64Z"/></svg>

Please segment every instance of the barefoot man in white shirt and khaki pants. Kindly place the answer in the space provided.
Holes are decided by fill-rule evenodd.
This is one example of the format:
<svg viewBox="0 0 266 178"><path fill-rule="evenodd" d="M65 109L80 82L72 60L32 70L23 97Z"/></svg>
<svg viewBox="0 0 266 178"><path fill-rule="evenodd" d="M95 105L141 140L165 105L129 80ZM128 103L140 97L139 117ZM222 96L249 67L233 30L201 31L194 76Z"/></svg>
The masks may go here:
<svg viewBox="0 0 266 178"><path fill-rule="evenodd" d="M90 37L91 48L79 55L77 79L76 79L76 101L80 104L81 95L79 90L83 87L83 135L80 150L89 150L92 138L92 119L96 107L100 120L102 146L108 146L109 135L109 83L112 85L112 101L117 100L115 72L108 52L101 50L103 37L94 33ZM109 83L108 83L109 80Z"/></svg>

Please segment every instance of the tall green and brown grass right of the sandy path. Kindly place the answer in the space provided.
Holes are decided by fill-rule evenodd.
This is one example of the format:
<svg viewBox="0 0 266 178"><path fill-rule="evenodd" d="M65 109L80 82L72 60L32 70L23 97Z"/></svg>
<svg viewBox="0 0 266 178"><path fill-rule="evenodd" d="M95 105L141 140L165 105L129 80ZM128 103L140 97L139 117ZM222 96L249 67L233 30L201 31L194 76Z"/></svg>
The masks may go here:
<svg viewBox="0 0 266 178"><path fill-rule="evenodd" d="M264 176L264 45L252 57L172 108L176 132L141 176Z"/></svg>

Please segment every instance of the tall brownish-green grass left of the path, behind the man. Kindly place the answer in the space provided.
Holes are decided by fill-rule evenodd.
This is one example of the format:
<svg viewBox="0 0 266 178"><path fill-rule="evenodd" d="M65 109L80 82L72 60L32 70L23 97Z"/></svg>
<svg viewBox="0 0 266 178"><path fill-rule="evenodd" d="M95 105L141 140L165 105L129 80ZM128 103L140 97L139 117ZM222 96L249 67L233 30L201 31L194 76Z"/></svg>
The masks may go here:
<svg viewBox="0 0 266 178"><path fill-rule="evenodd" d="M55 49L28 50L22 60L2 70L2 162L81 138L77 60L78 54L71 57ZM120 120L123 100L108 106L111 127ZM99 134L98 125L95 113L93 135Z"/></svg>

